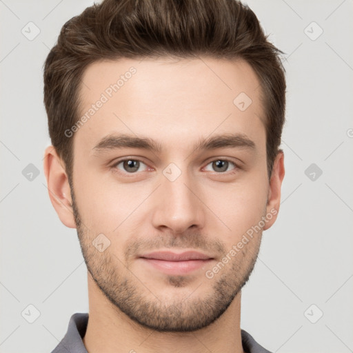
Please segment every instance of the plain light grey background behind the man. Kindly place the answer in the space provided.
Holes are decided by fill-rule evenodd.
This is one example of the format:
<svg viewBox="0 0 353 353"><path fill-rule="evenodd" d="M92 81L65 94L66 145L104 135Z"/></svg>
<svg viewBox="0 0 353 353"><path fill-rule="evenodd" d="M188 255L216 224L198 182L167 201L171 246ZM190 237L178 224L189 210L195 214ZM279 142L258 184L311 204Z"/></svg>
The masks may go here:
<svg viewBox="0 0 353 353"><path fill-rule="evenodd" d="M281 210L243 289L241 327L272 352L353 352L353 2L248 4L286 53L288 105ZM63 23L90 5L0 0L1 353L50 352L70 316L88 312L76 230L59 221L43 175L42 65ZM30 21L32 40L21 32L35 34Z"/></svg>

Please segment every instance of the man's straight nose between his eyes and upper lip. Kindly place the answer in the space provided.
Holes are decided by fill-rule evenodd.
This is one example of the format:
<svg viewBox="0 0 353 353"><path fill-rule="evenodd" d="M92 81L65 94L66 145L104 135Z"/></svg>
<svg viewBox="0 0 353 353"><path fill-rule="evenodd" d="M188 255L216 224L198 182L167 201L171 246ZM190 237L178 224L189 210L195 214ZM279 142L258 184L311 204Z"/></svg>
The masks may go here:
<svg viewBox="0 0 353 353"><path fill-rule="evenodd" d="M169 228L175 234L192 227L203 228L205 210L200 193L196 181L187 172L182 172L174 181L162 174L161 185L154 194L154 228Z"/></svg>

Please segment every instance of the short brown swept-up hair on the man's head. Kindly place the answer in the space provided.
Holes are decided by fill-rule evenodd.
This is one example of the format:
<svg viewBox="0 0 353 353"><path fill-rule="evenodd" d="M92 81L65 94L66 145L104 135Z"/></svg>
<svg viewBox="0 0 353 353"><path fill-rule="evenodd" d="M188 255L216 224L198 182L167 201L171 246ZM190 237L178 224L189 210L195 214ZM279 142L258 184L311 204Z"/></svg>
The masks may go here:
<svg viewBox="0 0 353 353"><path fill-rule="evenodd" d="M285 69L256 15L237 0L104 0L67 21L44 64L44 103L52 145L69 181L85 68L101 59L244 59L261 83L268 175L285 121Z"/></svg>

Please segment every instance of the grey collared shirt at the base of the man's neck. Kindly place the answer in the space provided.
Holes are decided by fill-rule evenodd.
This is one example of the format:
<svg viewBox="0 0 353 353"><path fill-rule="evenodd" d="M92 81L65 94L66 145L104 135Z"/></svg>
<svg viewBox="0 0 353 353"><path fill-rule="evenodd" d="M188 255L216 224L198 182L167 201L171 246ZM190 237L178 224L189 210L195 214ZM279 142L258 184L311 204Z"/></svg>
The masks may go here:
<svg viewBox="0 0 353 353"><path fill-rule="evenodd" d="M83 337L88 324L88 313L77 312L72 314L68 332L52 351L52 353L88 353L83 345ZM261 347L248 332L241 330L241 343L245 353L271 353Z"/></svg>

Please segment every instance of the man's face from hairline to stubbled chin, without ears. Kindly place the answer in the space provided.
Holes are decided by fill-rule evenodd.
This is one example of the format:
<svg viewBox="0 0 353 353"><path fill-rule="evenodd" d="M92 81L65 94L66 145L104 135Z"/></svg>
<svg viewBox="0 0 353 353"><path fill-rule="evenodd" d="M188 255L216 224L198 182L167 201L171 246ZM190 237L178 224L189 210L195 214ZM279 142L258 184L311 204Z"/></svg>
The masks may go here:
<svg viewBox="0 0 353 353"><path fill-rule="evenodd" d="M80 117L90 118L74 134L72 196L94 285L155 330L209 325L248 281L270 212L254 71L244 61L121 59L93 63L82 81ZM223 135L237 138L217 144ZM188 251L205 259L178 257Z"/></svg>

